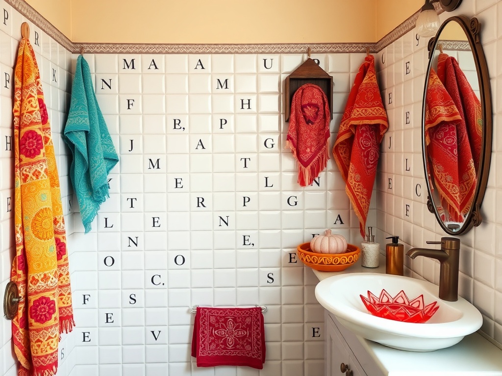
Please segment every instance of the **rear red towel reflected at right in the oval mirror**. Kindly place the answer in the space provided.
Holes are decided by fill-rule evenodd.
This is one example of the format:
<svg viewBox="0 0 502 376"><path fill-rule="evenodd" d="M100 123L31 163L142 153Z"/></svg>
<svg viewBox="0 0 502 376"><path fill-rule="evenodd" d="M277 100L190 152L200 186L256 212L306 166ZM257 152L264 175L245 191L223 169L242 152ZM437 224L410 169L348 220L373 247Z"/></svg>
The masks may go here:
<svg viewBox="0 0 502 376"><path fill-rule="evenodd" d="M437 74L462 117L457 133L465 137L465 142L469 144L477 172L483 137L481 102L454 57L439 54Z"/></svg>

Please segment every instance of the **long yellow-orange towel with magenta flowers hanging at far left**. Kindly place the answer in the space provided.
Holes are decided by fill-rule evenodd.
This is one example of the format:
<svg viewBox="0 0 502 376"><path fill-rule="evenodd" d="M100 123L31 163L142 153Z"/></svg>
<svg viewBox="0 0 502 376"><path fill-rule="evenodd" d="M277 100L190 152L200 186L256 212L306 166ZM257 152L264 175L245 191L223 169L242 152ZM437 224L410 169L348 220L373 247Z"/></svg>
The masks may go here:
<svg viewBox="0 0 502 376"><path fill-rule="evenodd" d="M72 330L70 275L59 176L40 72L23 38L15 68L16 257L11 281L23 300L12 320L19 376L52 376L60 334Z"/></svg>

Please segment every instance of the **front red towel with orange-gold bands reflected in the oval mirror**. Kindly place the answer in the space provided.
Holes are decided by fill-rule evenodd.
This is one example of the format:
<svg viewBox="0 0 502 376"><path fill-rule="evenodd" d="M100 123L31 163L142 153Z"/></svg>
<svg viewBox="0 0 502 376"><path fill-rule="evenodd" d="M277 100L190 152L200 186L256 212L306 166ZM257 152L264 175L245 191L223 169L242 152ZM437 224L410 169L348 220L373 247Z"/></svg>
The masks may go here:
<svg viewBox="0 0 502 376"><path fill-rule="evenodd" d="M474 163L462 117L434 69L431 69L425 97L425 142L428 176L437 190L446 220L463 222L472 204L476 185ZM460 135L459 135L460 134Z"/></svg>

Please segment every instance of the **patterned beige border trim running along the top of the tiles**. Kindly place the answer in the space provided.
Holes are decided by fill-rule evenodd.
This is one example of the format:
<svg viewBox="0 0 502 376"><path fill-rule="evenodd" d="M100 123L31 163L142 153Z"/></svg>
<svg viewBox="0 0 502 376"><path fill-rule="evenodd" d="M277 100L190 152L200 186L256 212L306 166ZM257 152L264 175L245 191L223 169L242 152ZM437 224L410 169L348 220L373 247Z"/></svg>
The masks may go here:
<svg viewBox="0 0 502 376"><path fill-rule="evenodd" d="M122 43L73 43L40 15L24 0L5 0L15 10L39 27L69 52L83 51L89 54L302 54L308 48L312 54L322 53L370 53L382 51L410 30L415 28L420 10L376 43L318 43L318 44L122 44ZM434 3L436 12L443 12Z"/></svg>

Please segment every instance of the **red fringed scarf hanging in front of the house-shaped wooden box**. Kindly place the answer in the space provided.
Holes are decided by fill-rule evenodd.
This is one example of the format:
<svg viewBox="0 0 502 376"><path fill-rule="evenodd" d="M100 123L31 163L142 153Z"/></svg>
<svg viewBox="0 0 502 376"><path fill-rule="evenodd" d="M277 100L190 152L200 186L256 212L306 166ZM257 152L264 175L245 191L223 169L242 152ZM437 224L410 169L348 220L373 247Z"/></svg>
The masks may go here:
<svg viewBox="0 0 502 376"><path fill-rule="evenodd" d="M312 184L326 167L329 145L328 98L322 89L313 84L298 88L291 102L286 147L298 160L298 183Z"/></svg>

